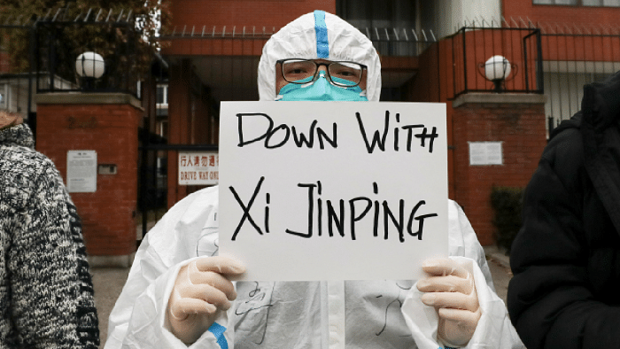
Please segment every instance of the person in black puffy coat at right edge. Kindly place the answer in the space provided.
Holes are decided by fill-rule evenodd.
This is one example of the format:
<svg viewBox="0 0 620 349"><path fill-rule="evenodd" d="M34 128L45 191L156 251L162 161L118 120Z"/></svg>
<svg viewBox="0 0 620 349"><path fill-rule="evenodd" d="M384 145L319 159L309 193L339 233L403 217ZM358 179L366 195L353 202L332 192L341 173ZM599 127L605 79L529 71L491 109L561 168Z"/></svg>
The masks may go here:
<svg viewBox="0 0 620 349"><path fill-rule="evenodd" d="M529 349L620 347L620 72L586 85L523 198L508 311Z"/></svg>

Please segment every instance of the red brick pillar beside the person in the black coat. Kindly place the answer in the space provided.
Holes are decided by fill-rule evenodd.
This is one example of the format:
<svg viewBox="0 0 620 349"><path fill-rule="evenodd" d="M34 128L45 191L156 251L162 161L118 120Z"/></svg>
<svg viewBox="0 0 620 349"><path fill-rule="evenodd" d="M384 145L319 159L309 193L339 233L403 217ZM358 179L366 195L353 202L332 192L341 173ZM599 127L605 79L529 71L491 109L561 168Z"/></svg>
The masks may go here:
<svg viewBox="0 0 620 349"><path fill-rule="evenodd" d="M545 97L467 94L453 101L454 199L482 245L494 244L493 186L524 188L546 145ZM500 142L502 165L469 164L471 142Z"/></svg>

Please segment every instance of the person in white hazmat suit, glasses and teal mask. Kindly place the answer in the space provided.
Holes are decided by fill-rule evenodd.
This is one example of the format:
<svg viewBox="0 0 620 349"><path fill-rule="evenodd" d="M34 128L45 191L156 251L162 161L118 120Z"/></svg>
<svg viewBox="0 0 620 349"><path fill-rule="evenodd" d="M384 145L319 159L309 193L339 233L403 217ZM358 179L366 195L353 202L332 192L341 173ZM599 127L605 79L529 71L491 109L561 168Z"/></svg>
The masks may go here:
<svg viewBox="0 0 620 349"><path fill-rule="evenodd" d="M263 101L378 101L379 57L344 20L308 13L265 44L259 92ZM252 266L217 255L217 213L218 188L199 190L146 235L110 315L106 349L523 347L453 201L451 257L425 260L429 277L418 283L231 283L227 275Z"/></svg>

